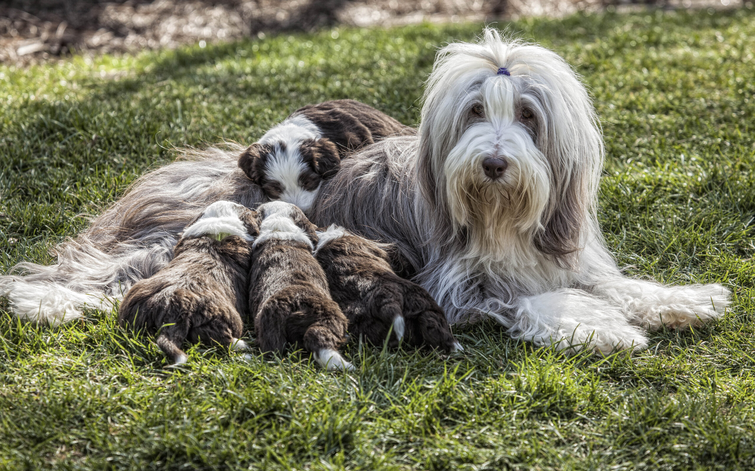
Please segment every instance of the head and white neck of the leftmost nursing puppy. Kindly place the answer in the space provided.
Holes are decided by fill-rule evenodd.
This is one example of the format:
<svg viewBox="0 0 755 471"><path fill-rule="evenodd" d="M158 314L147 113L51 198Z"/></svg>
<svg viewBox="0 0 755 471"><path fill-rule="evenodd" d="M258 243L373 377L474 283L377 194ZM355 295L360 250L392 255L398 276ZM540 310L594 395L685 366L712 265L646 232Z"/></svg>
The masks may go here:
<svg viewBox="0 0 755 471"><path fill-rule="evenodd" d="M181 234L181 240L205 235L217 240L235 235L251 241L260 234L257 212L233 201L220 200L207 206Z"/></svg>

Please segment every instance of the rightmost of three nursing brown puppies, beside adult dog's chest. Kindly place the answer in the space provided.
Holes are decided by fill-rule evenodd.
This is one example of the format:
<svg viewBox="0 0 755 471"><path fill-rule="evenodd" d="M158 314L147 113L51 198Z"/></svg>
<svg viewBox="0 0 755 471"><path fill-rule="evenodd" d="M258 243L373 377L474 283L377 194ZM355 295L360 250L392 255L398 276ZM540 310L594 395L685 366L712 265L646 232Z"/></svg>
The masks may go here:
<svg viewBox="0 0 755 471"><path fill-rule="evenodd" d="M403 340L446 352L464 350L430 293L393 272L384 244L337 225L318 236L315 256L331 296L349 320L350 335L380 345L393 329L388 339L392 347Z"/></svg>

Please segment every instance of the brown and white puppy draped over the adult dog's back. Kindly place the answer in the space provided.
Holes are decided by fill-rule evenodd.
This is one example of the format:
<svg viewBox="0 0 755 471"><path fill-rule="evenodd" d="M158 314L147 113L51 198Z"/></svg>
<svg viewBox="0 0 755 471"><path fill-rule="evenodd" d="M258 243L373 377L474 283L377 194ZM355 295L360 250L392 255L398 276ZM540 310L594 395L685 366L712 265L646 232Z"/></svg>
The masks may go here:
<svg viewBox="0 0 755 471"><path fill-rule="evenodd" d="M308 211L347 154L381 137L414 133L371 106L336 99L291 113L241 154L239 167L271 200Z"/></svg>

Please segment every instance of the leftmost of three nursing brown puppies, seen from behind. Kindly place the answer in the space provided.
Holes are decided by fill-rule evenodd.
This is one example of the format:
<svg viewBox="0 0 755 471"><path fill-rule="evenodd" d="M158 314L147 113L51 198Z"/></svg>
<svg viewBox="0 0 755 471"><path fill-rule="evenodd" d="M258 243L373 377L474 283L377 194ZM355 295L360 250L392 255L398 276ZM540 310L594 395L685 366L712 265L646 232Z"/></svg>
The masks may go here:
<svg viewBox="0 0 755 471"><path fill-rule="evenodd" d="M231 201L212 203L186 226L173 260L128 290L118 313L121 326L159 332L158 346L177 364L188 359L180 348L186 339L248 348L239 337L257 233L254 211Z"/></svg>

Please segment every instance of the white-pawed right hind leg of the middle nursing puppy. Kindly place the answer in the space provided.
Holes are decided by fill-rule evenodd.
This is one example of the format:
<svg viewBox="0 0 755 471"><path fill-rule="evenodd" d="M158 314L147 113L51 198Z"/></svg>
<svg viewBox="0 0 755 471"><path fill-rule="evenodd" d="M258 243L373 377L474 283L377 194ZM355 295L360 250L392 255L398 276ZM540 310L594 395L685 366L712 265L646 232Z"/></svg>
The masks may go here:
<svg viewBox="0 0 755 471"><path fill-rule="evenodd" d="M312 307L309 316L314 322L304 332L304 348L314 353L325 369L352 371L354 365L338 353L338 348L344 344L348 323L338 304L330 299L322 300Z"/></svg>

